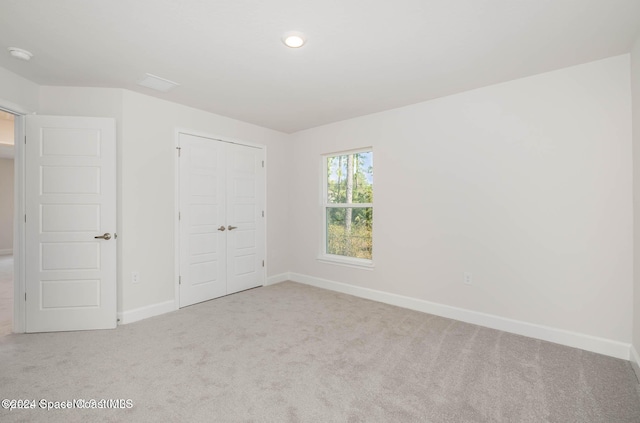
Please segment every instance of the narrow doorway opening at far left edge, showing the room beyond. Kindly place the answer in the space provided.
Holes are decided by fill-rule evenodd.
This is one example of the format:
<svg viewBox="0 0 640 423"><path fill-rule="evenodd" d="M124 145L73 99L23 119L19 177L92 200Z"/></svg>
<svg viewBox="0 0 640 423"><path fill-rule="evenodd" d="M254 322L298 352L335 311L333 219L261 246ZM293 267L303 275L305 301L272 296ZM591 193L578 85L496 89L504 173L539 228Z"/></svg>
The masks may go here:
<svg viewBox="0 0 640 423"><path fill-rule="evenodd" d="M13 328L15 116L0 110L0 336Z"/></svg>

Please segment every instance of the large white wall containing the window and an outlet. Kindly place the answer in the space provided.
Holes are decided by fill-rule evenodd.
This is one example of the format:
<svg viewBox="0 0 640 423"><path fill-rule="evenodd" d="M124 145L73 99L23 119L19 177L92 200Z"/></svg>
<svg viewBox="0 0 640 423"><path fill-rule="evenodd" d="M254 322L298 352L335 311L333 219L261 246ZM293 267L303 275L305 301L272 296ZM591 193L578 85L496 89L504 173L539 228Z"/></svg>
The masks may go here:
<svg viewBox="0 0 640 423"><path fill-rule="evenodd" d="M629 77L624 55L294 134L291 270L628 344ZM375 268L320 263L320 155L365 146Z"/></svg>

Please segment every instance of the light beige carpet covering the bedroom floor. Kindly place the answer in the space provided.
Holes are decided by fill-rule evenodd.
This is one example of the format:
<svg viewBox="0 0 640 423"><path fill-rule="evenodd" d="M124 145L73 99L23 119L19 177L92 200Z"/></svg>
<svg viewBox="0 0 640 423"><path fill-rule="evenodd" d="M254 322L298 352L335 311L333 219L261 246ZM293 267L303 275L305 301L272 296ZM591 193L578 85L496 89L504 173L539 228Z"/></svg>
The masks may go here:
<svg viewBox="0 0 640 423"><path fill-rule="evenodd" d="M640 422L629 362L292 282L111 331L8 335L0 421Z"/></svg>

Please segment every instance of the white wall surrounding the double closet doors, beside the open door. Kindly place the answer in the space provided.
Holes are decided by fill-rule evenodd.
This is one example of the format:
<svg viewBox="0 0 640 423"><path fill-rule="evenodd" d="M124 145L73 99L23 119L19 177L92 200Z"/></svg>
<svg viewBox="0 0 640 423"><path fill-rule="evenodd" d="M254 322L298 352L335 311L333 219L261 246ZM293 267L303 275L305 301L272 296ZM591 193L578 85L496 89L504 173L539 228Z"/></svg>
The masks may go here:
<svg viewBox="0 0 640 423"><path fill-rule="evenodd" d="M41 114L117 120L119 312L174 299L177 128L267 146L267 275L288 270L285 134L128 90L42 87L40 104Z"/></svg>

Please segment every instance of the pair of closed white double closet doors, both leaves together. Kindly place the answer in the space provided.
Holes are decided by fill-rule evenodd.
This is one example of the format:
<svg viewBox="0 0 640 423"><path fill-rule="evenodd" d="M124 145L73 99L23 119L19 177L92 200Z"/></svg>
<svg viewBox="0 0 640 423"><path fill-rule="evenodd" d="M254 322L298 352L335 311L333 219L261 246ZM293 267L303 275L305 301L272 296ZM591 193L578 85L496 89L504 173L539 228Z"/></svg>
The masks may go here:
<svg viewBox="0 0 640 423"><path fill-rule="evenodd" d="M180 307L264 284L264 150L179 134Z"/></svg>

